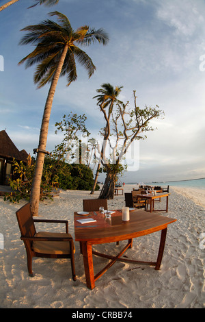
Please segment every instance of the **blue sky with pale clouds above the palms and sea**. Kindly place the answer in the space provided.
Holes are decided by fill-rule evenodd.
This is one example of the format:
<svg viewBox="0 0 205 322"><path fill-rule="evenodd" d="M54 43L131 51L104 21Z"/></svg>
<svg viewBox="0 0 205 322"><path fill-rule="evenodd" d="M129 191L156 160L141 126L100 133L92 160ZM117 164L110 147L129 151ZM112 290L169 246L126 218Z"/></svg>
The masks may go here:
<svg viewBox="0 0 205 322"><path fill-rule="evenodd" d="M0 0L3 5L6 0ZM104 121L93 97L103 83L123 86L120 99L137 105L158 105L164 119L139 142L124 182L160 182L205 177L205 1L204 0L59 0L53 7L20 0L0 12L0 130L16 147L33 156L38 147L42 113L49 86L33 84L35 67L18 62L33 50L18 45L27 25L35 25L57 10L73 29L89 25L109 34L107 46L86 51L96 66L90 79L77 65L77 81L59 79L46 150L61 142L55 122L70 112L87 116L92 136ZM55 20L55 17L52 17Z"/></svg>

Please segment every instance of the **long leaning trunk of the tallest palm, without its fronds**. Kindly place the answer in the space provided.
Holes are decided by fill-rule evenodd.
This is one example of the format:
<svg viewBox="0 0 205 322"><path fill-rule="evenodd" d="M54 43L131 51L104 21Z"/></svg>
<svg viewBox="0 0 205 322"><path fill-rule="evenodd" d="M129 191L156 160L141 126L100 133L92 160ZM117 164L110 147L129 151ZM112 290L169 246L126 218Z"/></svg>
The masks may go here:
<svg viewBox="0 0 205 322"><path fill-rule="evenodd" d="M38 216L38 207L39 207L39 199L40 199L40 183L41 183L42 171L44 166L44 158L45 158L45 153L43 151L46 150L53 97L55 94L55 89L57 86L59 75L61 73L61 69L64 64L64 60L66 58L67 51L68 51L68 45L64 47L64 51L61 54L61 58L59 60L59 64L55 71L53 80L51 82L51 87L49 89L49 94L46 99L46 104L44 107L44 115L42 118L42 125L40 129L36 167L33 175L32 187L31 187L30 203L31 203L31 212L33 216Z"/></svg>

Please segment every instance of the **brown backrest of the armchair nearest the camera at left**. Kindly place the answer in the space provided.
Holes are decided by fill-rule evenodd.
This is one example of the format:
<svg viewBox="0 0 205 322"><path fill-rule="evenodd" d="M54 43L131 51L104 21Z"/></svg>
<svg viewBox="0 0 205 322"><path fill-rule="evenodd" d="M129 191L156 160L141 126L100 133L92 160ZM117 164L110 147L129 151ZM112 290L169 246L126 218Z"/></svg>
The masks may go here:
<svg viewBox="0 0 205 322"><path fill-rule="evenodd" d="M31 205L26 203L16 211L18 226L22 236L33 237L36 234L36 228L33 223L33 216L31 214Z"/></svg>

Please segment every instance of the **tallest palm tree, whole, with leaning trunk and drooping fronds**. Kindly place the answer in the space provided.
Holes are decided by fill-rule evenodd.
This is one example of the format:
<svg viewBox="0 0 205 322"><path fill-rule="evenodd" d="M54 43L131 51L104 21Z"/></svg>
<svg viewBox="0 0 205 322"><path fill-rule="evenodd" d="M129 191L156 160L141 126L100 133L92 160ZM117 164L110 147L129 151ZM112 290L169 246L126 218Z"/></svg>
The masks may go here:
<svg viewBox="0 0 205 322"><path fill-rule="evenodd" d="M90 45L92 42L99 42L106 45L109 40L103 29L89 29L85 25L74 30L64 14L51 12L50 16L57 16L59 24L47 20L39 25L27 26L23 30L29 31L29 33L20 40L20 45L32 44L36 45L36 49L23 58L19 64L26 62L26 67L33 66L36 63L38 64L36 73L34 74L34 83L38 84L38 88L49 82L51 83L44 107L37 149L36 169L33 177L33 186L31 188L30 202L33 215L38 214L40 182L44 154L46 153L49 119L58 79L60 76L67 75L67 86L77 79L75 58L85 67L89 77L91 77L96 67L85 51L77 47L77 45Z"/></svg>

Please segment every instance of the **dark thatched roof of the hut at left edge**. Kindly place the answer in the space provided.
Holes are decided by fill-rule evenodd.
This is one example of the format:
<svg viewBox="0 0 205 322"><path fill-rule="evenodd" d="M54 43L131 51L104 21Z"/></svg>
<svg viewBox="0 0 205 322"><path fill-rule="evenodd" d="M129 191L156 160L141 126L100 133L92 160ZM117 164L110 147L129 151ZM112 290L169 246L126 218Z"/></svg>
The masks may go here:
<svg viewBox="0 0 205 322"><path fill-rule="evenodd" d="M0 157L15 158L16 160L27 161L28 153L25 150L19 151L3 130L0 131Z"/></svg>

